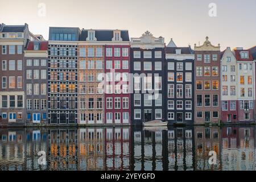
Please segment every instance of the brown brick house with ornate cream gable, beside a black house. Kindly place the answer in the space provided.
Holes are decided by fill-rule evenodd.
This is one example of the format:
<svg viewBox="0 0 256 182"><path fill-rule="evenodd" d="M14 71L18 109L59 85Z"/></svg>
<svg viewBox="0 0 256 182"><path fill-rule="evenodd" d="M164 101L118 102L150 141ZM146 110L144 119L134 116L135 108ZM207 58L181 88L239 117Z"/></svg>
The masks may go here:
<svg viewBox="0 0 256 182"><path fill-rule="evenodd" d="M195 44L195 124L217 124L221 118L220 44L208 37L202 46Z"/></svg>

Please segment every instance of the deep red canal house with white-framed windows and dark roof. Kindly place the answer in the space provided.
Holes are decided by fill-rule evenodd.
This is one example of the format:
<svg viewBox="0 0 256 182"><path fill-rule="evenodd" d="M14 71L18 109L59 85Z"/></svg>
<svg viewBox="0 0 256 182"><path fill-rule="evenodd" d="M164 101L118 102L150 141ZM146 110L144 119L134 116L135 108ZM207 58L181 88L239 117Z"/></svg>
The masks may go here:
<svg viewBox="0 0 256 182"><path fill-rule="evenodd" d="M105 41L105 123L127 125L131 121L129 32L102 30L98 34Z"/></svg>

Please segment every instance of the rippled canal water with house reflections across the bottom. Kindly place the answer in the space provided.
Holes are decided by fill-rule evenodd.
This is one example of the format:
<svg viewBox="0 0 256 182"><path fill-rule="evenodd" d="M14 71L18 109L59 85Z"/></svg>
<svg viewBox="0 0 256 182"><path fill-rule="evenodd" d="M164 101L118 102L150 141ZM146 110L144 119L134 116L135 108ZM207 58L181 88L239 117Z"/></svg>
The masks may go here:
<svg viewBox="0 0 256 182"><path fill-rule="evenodd" d="M255 135L255 126L0 129L0 170L255 170Z"/></svg>

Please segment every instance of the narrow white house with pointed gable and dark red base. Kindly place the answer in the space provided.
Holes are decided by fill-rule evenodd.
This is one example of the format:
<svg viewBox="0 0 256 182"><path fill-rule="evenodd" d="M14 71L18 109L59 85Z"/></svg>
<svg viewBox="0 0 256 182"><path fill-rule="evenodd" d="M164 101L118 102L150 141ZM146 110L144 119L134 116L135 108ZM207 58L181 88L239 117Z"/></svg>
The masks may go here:
<svg viewBox="0 0 256 182"><path fill-rule="evenodd" d="M221 52L221 121L238 122L237 60L234 52L227 47Z"/></svg>

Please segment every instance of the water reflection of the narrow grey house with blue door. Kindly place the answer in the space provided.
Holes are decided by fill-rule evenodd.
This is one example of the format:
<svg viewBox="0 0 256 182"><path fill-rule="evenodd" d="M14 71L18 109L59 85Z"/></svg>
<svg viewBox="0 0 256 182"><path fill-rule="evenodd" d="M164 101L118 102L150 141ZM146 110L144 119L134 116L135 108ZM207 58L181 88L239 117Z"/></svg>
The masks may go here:
<svg viewBox="0 0 256 182"><path fill-rule="evenodd" d="M48 156L48 130L47 129L26 129L26 169L46 170L46 165L39 165L39 151L46 152Z"/></svg>

